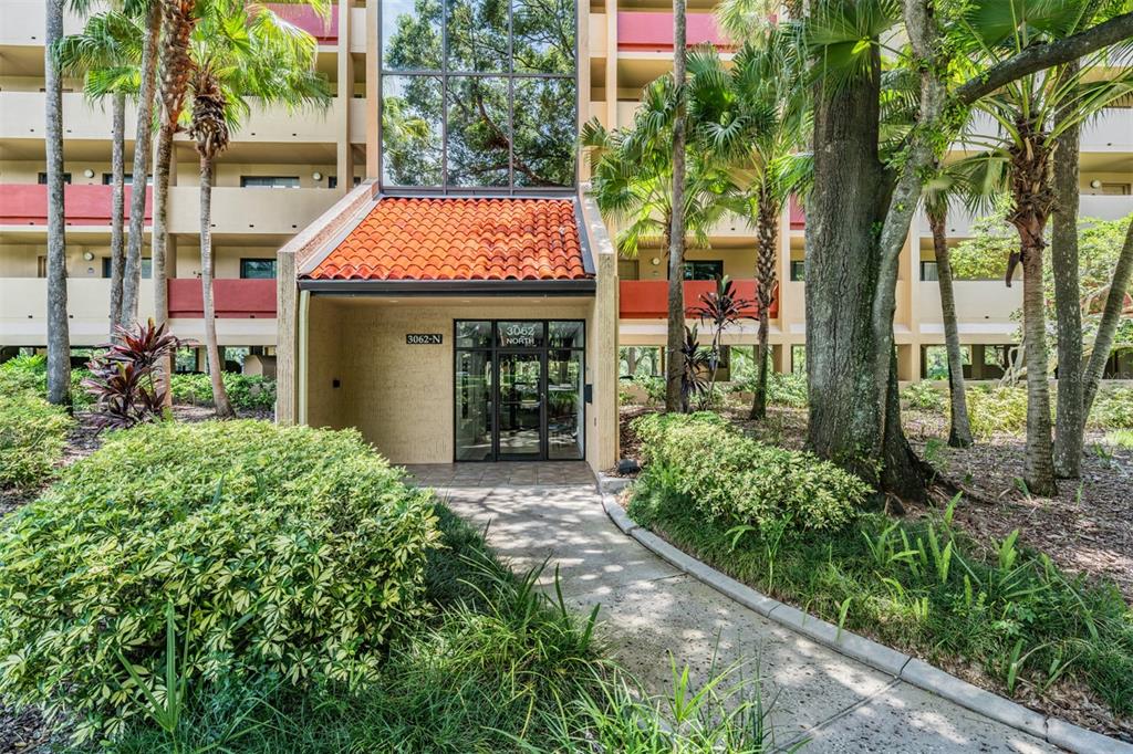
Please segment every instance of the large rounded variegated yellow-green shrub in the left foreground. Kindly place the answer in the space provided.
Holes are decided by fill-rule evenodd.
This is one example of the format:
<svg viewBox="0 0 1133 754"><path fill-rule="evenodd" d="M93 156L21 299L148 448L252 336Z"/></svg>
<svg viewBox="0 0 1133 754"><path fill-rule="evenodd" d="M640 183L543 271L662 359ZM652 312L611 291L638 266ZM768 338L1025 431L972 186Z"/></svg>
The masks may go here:
<svg viewBox="0 0 1133 754"><path fill-rule="evenodd" d="M159 668L170 600L197 685L357 685L421 612L436 538L429 495L352 430L114 432L0 532L0 693L73 716L79 739L116 734L145 708L118 652Z"/></svg>

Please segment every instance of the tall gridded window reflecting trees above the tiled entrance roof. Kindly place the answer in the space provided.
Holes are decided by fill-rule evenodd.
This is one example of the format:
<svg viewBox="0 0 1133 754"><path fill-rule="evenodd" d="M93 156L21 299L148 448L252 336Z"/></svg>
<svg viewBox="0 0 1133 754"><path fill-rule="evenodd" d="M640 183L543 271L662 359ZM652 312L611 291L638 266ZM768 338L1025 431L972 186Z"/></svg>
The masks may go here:
<svg viewBox="0 0 1133 754"><path fill-rule="evenodd" d="M380 25L384 186L574 186L572 0L382 0Z"/></svg>

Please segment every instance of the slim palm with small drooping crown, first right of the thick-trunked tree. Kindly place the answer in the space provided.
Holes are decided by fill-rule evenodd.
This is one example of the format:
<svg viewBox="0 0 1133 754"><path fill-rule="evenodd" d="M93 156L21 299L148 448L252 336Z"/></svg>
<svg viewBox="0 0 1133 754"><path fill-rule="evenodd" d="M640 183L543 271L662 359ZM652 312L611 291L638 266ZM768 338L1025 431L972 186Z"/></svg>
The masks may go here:
<svg viewBox="0 0 1133 754"><path fill-rule="evenodd" d="M944 319L944 343L948 354L948 399L952 420L948 445L968 447L972 444L972 429L968 417L968 397L964 393L964 360L960 348L960 326L956 322L956 297L953 291L952 250L948 247L948 208L963 203L970 208L985 207L1006 190L1006 163L994 155L974 155L937 165L921 192L925 214L932 233L936 255L937 283L940 289L940 316Z"/></svg>

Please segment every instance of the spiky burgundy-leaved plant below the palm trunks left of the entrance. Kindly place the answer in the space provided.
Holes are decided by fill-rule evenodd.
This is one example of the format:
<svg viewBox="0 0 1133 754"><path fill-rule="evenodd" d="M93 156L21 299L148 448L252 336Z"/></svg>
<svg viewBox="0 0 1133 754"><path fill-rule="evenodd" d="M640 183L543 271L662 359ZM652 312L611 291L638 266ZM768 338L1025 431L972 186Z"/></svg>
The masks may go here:
<svg viewBox="0 0 1133 754"><path fill-rule="evenodd" d="M165 325L137 324L118 327L118 342L87 367L91 376L83 380L95 399L95 425L125 429L146 421L156 421L165 413L165 391L157 384L157 365L173 353L180 341L165 332Z"/></svg>

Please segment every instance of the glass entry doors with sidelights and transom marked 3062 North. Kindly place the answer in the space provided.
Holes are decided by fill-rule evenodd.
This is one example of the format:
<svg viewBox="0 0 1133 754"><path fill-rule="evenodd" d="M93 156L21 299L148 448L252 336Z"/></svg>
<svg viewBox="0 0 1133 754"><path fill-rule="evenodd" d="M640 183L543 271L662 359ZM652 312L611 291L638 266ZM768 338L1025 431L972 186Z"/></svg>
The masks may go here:
<svg viewBox="0 0 1133 754"><path fill-rule="evenodd" d="M580 320L458 320L455 461L585 457Z"/></svg>

